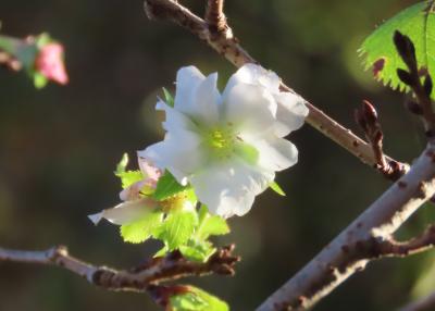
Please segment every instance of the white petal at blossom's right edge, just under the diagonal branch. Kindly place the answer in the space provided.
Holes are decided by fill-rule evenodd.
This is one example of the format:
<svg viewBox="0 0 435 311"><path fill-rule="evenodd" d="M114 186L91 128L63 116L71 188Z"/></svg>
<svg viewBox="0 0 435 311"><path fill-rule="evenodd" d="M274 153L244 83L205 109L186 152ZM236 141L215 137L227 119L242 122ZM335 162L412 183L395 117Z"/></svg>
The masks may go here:
<svg viewBox="0 0 435 311"><path fill-rule="evenodd" d="M309 113L304 100L291 92L279 92L275 95L277 100L275 135L284 137L293 130L300 128Z"/></svg>

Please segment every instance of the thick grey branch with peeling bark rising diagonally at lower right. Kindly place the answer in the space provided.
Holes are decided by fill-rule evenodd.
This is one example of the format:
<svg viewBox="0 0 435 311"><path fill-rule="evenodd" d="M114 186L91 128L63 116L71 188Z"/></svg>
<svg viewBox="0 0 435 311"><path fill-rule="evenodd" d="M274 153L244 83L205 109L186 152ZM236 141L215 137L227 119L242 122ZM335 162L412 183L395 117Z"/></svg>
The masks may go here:
<svg viewBox="0 0 435 311"><path fill-rule="evenodd" d="M370 261L432 246L432 229L408 246L394 242L391 235L434 194L435 146L430 144L405 176L257 310L304 310Z"/></svg>

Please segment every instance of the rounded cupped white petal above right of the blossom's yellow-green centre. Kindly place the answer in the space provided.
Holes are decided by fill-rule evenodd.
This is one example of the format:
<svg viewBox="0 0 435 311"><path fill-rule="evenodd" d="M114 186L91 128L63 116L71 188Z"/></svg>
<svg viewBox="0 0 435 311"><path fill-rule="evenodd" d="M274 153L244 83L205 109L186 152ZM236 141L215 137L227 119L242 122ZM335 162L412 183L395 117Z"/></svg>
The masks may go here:
<svg viewBox="0 0 435 311"><path fill-rule="evenodd" d="M224 98L223 112L226 122L237 130L262 134L275 123L277 103L264 88L238 84Z"/></svg>

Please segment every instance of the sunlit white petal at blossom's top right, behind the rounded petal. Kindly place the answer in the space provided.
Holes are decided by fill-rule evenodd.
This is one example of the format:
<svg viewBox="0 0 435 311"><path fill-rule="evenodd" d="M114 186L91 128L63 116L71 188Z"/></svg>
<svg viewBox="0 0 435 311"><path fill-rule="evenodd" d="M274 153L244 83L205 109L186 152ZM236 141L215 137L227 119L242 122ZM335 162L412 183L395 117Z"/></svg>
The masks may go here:
<svg viewBox="0 0 435 311"><path fill-rule="evenodd" d="M237 84L250 84L262 86L270 92L275 94L279 90L279 77L272 71L268 71L260 65L245 64L228 80L224 96Z"/></svg>

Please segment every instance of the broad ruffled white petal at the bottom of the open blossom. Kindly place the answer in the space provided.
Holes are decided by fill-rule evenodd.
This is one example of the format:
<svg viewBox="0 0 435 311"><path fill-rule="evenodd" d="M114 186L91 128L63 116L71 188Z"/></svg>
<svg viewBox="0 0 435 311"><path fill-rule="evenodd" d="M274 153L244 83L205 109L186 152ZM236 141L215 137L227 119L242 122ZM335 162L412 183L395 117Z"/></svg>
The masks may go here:
<svg viewBox="0 0 435 311"><path fill-rule="evenodd" d="M260 171L238 159L219 162L190 178L200 202L211 213L224 217L246 214L257 195L274 178L273 172Z"/></svg>

